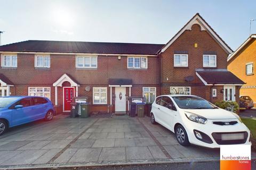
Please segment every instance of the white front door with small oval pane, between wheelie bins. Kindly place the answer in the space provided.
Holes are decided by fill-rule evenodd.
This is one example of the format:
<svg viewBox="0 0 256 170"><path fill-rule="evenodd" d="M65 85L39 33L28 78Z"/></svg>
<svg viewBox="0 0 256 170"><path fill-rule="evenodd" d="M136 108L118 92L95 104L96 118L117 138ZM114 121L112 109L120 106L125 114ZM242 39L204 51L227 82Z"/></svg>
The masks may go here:
<svg viewBox="0 0 256 170"><path fill-rule="evenodd" d="M115 101L115 111L125 112L126 111L126 88L116 87L115 88L116 101Z"/></svg>

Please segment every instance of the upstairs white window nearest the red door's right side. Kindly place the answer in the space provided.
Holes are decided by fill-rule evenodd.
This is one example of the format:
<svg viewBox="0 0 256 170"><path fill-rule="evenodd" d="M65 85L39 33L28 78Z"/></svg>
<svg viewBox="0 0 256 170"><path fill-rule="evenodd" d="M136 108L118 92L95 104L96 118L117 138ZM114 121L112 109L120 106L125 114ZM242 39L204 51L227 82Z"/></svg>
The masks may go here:
<svg viewBox="0 0 256 170"><path fill-rule="evenodd" d="M98 57L90 56L77 56L76 57L76 67L77 68L97 68Z"/></svg>

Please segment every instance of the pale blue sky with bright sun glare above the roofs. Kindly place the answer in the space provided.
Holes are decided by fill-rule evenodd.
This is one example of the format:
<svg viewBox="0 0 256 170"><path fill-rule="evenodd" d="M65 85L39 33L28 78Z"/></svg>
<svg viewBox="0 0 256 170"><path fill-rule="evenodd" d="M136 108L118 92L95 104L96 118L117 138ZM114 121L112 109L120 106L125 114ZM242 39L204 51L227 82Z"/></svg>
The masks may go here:
<svg viewBox="0 0 256 170"><path fill-rule="evenodd" d="M200 13L235 50L256 19L255 0L0 0L0 6L2 45L25 40L166 44Z"/></svg>

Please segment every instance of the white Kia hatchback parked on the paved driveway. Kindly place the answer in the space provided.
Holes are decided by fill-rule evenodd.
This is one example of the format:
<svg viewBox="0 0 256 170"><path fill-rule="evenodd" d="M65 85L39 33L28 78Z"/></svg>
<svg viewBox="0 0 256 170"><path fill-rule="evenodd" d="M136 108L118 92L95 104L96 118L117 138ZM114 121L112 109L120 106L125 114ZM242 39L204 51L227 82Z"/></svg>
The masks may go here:
<svg viewBox="0 0 256 170"><path fill-rule="evenodd" d="M158 96L152 104L151 123L174 132L182 146L251 145L250 130L237 114L198 96Z"/></svg>

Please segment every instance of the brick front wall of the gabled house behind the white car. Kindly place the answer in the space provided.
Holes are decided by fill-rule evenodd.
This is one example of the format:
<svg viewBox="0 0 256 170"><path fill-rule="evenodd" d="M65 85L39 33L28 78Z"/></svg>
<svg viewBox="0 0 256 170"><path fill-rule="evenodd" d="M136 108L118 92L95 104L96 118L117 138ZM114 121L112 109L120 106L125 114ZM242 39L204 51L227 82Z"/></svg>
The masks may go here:
<svg viewBox="0 0 256 170"><path fill-rule="evenodd" d="M195 48L194 44L198 47ZM182 52L188 54L188 67L174 67L174 54ZM178 53L179 54L179 53ZM203 54L216 54L217 67L203 67ZM210 87L205 87L196 76L196 69L227 69L228 54L221 46L207 33L201 31L198 24L194 24L190 30L186 30L159 56L161 58L161 93L170 94L170 86L189 86L191 94L201 96L207 100L223 100L218 88L217 97L211 98ZM185 77L193 76L194 80L187 82ZM223 88L223 87L222 87Z"/></svg>

